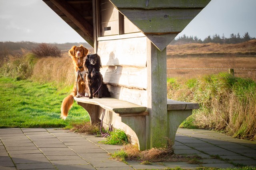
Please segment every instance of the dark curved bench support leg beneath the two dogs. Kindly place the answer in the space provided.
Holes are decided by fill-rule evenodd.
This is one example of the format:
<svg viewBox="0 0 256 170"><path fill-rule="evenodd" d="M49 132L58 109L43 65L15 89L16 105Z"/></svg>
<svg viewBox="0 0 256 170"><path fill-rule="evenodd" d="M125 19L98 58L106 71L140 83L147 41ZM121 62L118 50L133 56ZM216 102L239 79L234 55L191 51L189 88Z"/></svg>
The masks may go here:
<svg viewBox="0 0 256 170"><path fill-rule="evenodd" d="M91 125L96 124L96 123L99 122L98 106L97 105L81 103L81 102L77 102L77 104L84 107L84 109L86 109L86 111L88 111L88 113L90 115Z"/></svg>

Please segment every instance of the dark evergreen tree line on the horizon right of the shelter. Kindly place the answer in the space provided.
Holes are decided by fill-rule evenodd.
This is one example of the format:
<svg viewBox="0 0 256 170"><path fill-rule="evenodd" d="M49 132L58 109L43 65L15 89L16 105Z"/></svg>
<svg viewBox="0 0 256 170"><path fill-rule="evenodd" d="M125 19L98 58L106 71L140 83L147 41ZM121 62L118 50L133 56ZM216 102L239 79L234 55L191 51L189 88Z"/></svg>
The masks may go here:
<svg viewBox="0 0 256 170"><path fill-rule="evenodd" d="M186 36L185 34L177 39L174 39L170 44L171 45L179 45L179 44L189 44L189 43L220 43L220 44L236 44L242 43L245 41L249 41L251 39L255 39L255 37L251 37L248 32L244 33L244 35L238 34L230 34L230 37L226 38L224 34L220 37L218 34L209 35L204 40L199 39L196 36Z"/></svg>

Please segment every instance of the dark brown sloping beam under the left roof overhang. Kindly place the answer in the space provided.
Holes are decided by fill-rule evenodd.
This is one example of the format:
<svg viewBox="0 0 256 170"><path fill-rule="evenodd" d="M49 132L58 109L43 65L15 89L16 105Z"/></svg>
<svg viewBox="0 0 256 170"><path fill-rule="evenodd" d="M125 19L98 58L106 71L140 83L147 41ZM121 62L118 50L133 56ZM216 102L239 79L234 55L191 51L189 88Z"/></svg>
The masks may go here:
<svg viewBox="0 0 256 170"><path fill-rule="evenodd" d="M63 12L70 20L76 24L89 38L90 45L93 45L93 27L88 23L88 21L84 20L84 18L68 4L65 0L50 0L57 8Z"/></svg>

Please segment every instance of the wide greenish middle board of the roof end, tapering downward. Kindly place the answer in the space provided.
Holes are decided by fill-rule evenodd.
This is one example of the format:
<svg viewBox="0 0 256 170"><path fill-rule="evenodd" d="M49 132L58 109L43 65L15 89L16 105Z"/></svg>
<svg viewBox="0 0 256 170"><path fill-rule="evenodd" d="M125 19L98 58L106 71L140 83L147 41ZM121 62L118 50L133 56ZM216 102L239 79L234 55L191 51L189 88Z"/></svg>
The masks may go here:
<svg viewBox="0 0 256 170"><path fill-rule="evenodd" d="M121 9L143 33L179 33L202 9ZM140 17L138 17L140 16Z"/></svg>

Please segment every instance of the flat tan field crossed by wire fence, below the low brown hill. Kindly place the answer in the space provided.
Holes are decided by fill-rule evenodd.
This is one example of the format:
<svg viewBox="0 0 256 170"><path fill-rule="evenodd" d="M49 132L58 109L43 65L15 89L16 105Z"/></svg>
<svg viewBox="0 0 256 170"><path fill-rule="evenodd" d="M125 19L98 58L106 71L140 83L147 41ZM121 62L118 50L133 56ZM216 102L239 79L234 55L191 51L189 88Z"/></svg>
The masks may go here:
<svg viewBox="0 0 256 170"><path fill-rule="evenodd" d="M169 57L167 59L169 78L195 78L206 74L228 72L228 68L234 69L235 76L256 80L256 57ZM248 68L254 70L247 70Z"/></svg>

